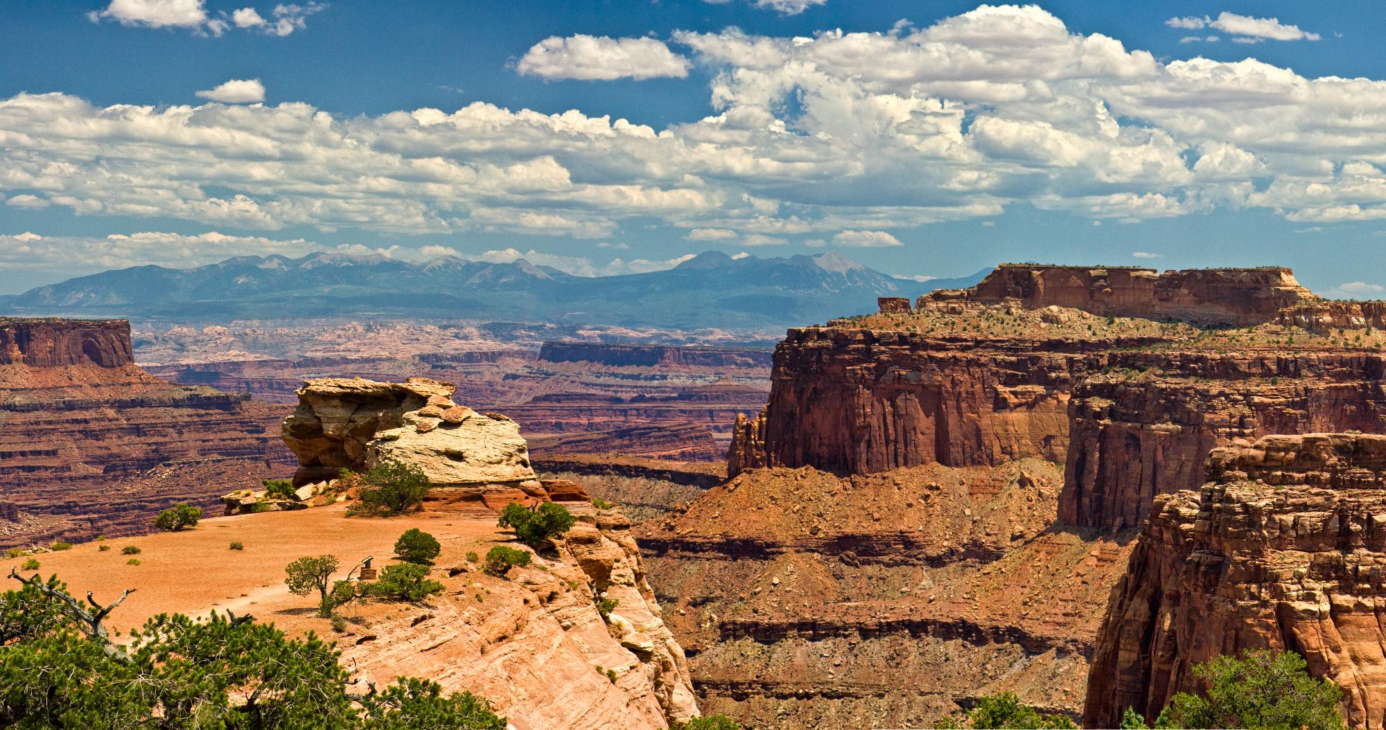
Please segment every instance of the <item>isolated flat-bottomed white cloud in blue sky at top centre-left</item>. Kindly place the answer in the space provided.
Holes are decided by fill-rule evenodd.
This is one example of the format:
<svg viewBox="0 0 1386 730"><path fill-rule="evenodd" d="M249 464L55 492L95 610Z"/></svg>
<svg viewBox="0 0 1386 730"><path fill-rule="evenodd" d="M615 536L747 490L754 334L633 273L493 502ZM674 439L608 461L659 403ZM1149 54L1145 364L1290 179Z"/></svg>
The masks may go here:
<svg viewBox="0 0 1386 730"><path fill-rule="evenodd" d="M657 79L687 76L687 58L653 37L550 36L535 43L516 69L543 79Z"/></svg>

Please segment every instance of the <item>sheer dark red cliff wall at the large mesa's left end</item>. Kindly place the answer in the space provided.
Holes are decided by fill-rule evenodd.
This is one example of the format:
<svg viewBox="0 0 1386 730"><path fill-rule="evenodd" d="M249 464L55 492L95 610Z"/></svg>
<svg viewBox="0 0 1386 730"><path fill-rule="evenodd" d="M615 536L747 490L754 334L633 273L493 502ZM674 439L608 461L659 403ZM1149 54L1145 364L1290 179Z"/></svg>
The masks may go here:
<svg viewBox="0 0 1386 730"><path fill-rule="evenodd" d="M995 465L1031 456L1062 461L1070 363L1084 349L855 328L790 330L775 350L764 424L739 421L730 470L812 465L873 474L933 463Z"/></svg>

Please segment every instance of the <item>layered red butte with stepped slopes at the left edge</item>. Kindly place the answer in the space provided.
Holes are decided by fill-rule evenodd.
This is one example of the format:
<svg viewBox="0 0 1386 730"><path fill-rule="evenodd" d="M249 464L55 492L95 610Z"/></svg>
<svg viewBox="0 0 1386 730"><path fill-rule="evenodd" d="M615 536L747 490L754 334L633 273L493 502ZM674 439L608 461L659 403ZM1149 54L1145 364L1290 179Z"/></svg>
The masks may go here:
<svg viewBox="0 0 1386 730"><path fill-rule="evenodd" d="M125 320L0 320L0 547L130 535L175 501L291 468L283 407L175 385Z"/></svg>

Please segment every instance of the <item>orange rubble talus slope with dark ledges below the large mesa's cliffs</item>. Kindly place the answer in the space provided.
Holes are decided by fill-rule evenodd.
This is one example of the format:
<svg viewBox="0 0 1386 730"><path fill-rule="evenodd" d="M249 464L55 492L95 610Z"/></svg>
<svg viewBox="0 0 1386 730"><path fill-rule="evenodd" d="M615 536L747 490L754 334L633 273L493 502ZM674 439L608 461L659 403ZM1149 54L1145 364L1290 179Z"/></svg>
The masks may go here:
<svg viewBox="0 0 1386 730"><path fill-rule="evenodd" d="M1053 529L1060 483L1040 459L750 470L636 535L704 712L926 727L1009 690L1076 716L1128 547Z"/></svg>

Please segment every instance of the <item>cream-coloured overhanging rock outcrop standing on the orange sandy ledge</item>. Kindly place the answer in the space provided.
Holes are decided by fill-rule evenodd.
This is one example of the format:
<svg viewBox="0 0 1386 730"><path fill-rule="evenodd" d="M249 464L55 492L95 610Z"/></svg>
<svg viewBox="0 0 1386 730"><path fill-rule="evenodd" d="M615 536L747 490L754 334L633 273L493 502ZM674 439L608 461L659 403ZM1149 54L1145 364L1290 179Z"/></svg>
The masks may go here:
<svg viewBox="0 0 1386 730"><path fill-rule="evenodd" d="M284 443L298 454L295 486L402 461L439 486L514 488L535 479L520 425L450 400L453 385L428 378L376 382L319 378L298 389Z"/></svg>

